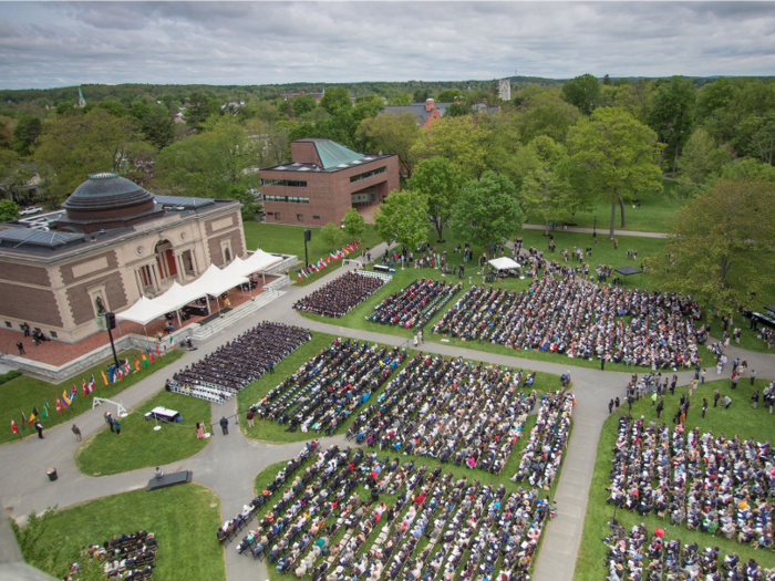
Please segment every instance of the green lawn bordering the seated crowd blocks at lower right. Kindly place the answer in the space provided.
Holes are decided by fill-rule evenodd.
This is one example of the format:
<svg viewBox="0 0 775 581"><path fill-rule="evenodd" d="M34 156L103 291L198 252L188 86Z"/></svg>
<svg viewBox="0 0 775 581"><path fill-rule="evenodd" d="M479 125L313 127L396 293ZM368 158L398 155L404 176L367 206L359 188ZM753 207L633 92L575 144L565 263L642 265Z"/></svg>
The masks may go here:
<svg viewBox="0 0 775 581"><path fill-rule="evenodd" d="M715 373L709 370L707 378L715 377ZM692 396L692 407L689 409L686 418L686 433L694 427L700 428L700 433L713 432L719 436L723 432L727 438L738 434L742 438L755 437L757 440L769 442L775 438L775 422L768 411L762 406L757 409L751 408L751 395L754 388L758 388L760 393L765 387L763 380L756 380L756 385L751 386L751 380L744 377L737 390L730 388L730 381L713 381L701 385L698 392ZM732 406L728 409L713 407L713 394L715 390L720 390L722 397L726 394L732 397ZM685 387L675 390L675 395L668 395L664 398L665 407L662 419L671 422L678 402L682 394L686 393ZM706 398L710 403L707 414L703 419L701 417L702 398ZM626 408L623 407L622 411ZM632 406L632 416L644 416L645 422L657 421L657 413L651 407L651 402L642 400L636 402ZM611 468L611 447L617 438L618 416L612 414L603 424L598 444L598 456L595 460L595 475L592 485L589 491L589 505L587 507L587 516L583 523L583 536L581 538L581 547L576 560L576 572L574 579L576 581L592 581L603 579L606 569L602 567L606 558L607 549L601 542L602 538L608 535L608 521L613 515L612 505L607 505L606 499L608 492L606 487L609 485L608 475ZM701 548L709 546L719 546L722 557L732 552L736 552L742 562L753 558L763 567L775 566L775 553L766 550L754 550L750 544L737 544L734 540L727 540L723 535L712 537L706 532L699 530L688 530L685 525L671 526L670 519L660 519L654 515L641 518L638 512L631 510L617 510L617 520L624 527L629 528L633 525L643 522L652 532L654 528L660 527L668 531L666 539L681 539L683 542L696 541ZM721 559L720 559L721 560Z"/></svg>

